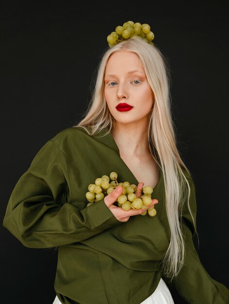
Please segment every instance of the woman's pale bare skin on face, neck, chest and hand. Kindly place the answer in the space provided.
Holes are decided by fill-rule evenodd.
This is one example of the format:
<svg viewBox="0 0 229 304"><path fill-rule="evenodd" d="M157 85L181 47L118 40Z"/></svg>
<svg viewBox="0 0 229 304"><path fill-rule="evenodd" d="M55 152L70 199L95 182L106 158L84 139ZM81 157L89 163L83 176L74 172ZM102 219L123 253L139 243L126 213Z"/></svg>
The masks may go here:
<svg viewBox="0 0 229 304"><path fill-rule="evenodd" d="M140 191L136 191L136 196L139 198L144 184L154 187L159 179L158 167L149 150L147 132L154 94L138 55L130 51L118 51L109 57L104 84L106 103L116 120L112 136L119 148L121 158L137 180L141 181L137 185ZM133 108L127 112L119 112L116 106L124 102ZM105 197L104 202L116 219L124 222L131 216L140 215L145 209L125 211L115 206L114 203L122 192L123 187L117 187ZM152 199L148 208L156 203L158 200Z"/></svg>

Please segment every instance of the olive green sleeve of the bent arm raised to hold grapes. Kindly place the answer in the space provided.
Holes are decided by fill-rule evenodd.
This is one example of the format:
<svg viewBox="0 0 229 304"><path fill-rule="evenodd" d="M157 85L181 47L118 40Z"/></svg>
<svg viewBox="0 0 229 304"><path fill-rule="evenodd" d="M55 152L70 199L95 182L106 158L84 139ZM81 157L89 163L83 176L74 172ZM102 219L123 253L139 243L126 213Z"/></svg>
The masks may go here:
<svg viewBox="0 0 229 304"><path fill-rule="evenodd" d="M70 187L74 183L65 155L50 140L18 180L3 226L26 247L51 248L85 240L121 223L104 199L88 207L87 199L72 201Z"/></svg>

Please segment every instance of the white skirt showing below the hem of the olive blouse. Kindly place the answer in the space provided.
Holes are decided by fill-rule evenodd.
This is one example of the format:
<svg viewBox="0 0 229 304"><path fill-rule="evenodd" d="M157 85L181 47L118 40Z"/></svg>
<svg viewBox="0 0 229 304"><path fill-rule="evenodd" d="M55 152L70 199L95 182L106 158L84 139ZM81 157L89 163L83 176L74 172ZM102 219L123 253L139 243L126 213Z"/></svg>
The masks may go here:
<svg viewBox="0 0 229 304"><path fill-rule="evenodd" d="M54 299L53 304L61 304L57 296ZM169 288L165 282L160 279L158 287L155 289L154 293L151 294L146 300L141 302L141 304L174 304L172 295Z"/></svg>

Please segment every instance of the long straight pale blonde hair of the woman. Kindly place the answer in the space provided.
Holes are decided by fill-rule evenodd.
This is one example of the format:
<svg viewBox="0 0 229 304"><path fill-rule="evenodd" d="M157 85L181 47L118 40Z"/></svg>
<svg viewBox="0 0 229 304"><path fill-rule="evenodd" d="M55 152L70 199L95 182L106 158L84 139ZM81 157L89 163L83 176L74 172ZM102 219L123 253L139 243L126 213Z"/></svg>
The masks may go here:
<svg viewBox="0 0 229 304"><path fill-rule="evenodd" d="M85 128L89 135L94 135L105 128L108 129L107 133L114 130L115 120L108 110L104 96L104 74L109 56L114 52L123 50L134 52L139 56L154 93L154 106L149 115L148 141L152 156L164 176L165 205L171 240L162 261L162 268L167 277L173 278L181 270L184 263L184 236L181 231L179 214L186 199L188 200L194 228L196 229L196 227L189 205L191 195L189 182L180 165L186 169L188 174L190 174L190 171L183 163L176 148L175 125L171 115L168 61L161 51L138 36L106 50L98 66L97 79L94 83L94 91L88 109L77 126ZM90 131L87 128L88 126Z"/></svg>

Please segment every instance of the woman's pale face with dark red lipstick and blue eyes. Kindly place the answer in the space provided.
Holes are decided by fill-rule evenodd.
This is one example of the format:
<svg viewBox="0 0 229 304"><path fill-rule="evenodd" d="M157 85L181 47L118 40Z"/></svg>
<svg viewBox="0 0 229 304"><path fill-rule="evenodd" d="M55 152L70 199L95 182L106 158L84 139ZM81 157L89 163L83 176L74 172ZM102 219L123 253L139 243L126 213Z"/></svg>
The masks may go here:
<svg viewBox="0 0 229 304"><path fill-rule="evenodd" d="M154 95L137 54L113 53L106 65L104 81L106 103L116 122L148 123Z"/></svg>

